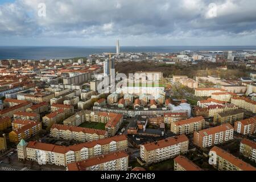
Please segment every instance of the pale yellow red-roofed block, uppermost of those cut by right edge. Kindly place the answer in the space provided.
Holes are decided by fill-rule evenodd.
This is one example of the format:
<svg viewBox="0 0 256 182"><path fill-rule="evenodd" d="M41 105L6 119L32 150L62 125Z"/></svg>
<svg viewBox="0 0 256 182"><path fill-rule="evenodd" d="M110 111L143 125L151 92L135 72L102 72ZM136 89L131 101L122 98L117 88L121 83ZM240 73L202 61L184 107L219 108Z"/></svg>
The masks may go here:
<svg viewBox="0 0 256 182"><path fill-rule="evenodd" d="M250 100L249 98L233 97L231 99L231 103L238 107L241 107L242 109L245 109L252 113L256 113L256 101Z"/></svg>

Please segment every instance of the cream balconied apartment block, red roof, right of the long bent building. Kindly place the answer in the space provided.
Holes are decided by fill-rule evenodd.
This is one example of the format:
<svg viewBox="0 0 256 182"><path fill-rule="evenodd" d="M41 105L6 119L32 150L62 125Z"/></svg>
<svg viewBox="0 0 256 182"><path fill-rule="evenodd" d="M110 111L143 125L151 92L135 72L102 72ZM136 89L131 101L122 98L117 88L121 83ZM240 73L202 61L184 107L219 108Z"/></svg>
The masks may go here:
<svg viewBox="0 0 256 182"><path fill-rule="evenodd" d="M179 135L141 145L141 159L146 164L158 163L187 151L188 138L185 135Z"/></svg>

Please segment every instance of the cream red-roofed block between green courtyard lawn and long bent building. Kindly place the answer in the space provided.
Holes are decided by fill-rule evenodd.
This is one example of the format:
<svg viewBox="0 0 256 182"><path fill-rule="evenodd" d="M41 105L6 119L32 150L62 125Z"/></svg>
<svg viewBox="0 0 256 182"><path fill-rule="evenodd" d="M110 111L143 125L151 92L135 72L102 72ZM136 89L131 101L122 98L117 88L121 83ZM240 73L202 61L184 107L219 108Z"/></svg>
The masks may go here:
<svg viewBox="0 0 256 182"><path fill-rule="evenodd" d="M106 138L108 133L105 130L53 124L51 127L51 137L88 142Z"/></svg>

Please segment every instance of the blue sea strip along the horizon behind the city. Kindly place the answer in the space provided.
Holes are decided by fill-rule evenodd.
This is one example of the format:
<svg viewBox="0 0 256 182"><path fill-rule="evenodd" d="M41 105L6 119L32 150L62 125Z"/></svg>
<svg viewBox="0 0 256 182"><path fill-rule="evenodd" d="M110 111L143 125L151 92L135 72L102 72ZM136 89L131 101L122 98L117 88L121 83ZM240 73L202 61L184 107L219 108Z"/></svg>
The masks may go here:
<svg viewBox="0 0 256 182"><path fill-rule="evenodd" d="M0 47L1 59L68 59L94 53L115 52L115 47ZM180 51L242 51L256 46L123 46L121 52L174 53Z"/></svg>

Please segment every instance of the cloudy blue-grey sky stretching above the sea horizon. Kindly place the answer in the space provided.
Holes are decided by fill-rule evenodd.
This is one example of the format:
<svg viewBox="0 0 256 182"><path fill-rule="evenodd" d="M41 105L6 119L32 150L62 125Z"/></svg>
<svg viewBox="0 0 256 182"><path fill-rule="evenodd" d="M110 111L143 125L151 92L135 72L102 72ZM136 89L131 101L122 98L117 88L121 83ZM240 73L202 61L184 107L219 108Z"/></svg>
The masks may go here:
<svg viewBox="0 0 256 182"><path fill-rule="evenodd" d="M38 5L46 5L46 16ZM42 7L42 6L41 6ZM256 46L255 0L1 0L0 46Z"/></svg>

